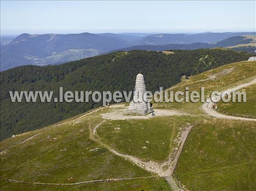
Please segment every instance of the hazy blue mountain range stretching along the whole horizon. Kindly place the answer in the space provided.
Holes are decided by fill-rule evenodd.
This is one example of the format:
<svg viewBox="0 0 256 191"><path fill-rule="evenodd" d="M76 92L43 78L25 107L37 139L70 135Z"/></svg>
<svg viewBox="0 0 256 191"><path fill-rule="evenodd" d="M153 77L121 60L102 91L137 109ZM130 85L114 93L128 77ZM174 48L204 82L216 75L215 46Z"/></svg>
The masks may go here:
<svg viewBox="0 0 256 191"><path fill-rule="evenodd" d="M146 34L129 33L21 34L14 39L1 38L0 70L4 71L23 65L55 65L113 50L146 49L160 51L235 46L238 44L238 42L234 43L237 39L233 41L232 39L222 40L252 34L255 32L206 32L190 35L151 34L147 36L145 36ZM244 37L240 38L244 39Z"/></svg>

